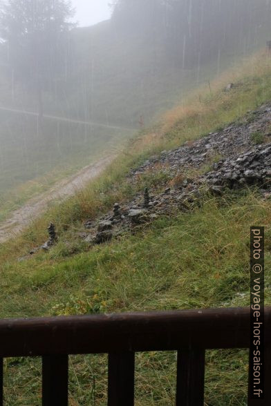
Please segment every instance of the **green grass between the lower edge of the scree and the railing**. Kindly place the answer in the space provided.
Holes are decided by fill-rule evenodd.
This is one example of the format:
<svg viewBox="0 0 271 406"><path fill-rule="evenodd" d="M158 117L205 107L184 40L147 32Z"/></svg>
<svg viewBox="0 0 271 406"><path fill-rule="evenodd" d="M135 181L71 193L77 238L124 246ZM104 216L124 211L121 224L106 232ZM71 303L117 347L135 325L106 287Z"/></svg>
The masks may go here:
<svg viewBox="0 0 271 406"><path fill-rule="evenodd" d="M134 236L91 251L81 246L80 253L68 257L62 240L48 255L39 253L31 260L2 266L1 316L248 305L250 225L267 226L265 240L269 242L270 218L270 202L261 202L256 194L247 192L241 197L227 196L223 202L206 200L193 213L160 218ZM267 244L267 269L270 248ZM265 302L271 304L268 274L265 283ZM245 354L208 352L207 405L245 405ZM81 399L79 404L88 404L96 376L96 404L105 405L106 358L72 359L72 396L78 402ZM174 354L140 354L137 360L137 404L173 405ZM8 368L10 361L7 363ZM24 405L34 404L32 391L40 385L37 365L38 360L20 361L23 381L14 374L18 365L8 368L7 385L13 392L9 392L8 405L20 404L16 396L23 395L24 402L28 401ZM31 394L23 389L24 380L26 388L32 388Z"/></svg>

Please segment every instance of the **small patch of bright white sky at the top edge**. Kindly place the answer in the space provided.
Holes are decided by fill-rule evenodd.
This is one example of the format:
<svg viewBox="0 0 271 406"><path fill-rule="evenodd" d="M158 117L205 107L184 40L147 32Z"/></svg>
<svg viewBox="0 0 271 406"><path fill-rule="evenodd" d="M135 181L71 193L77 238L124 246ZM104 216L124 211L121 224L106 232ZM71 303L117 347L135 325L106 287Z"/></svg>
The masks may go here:
<svg viewBox="0 0 271 406"><path fill-rule="evenodd" d="M110 0L72 0L73 6L77 9L75 19L79 26L92 26L110 18Z"/></svg>

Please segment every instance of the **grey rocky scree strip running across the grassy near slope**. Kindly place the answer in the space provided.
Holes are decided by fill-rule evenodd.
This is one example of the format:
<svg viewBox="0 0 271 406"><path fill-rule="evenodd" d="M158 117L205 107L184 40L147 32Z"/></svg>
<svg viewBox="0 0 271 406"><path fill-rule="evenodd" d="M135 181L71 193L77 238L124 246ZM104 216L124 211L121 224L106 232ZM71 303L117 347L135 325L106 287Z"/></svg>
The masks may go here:
<svg viewBox="0 0 271 406"><path fill-rule="evenodd" d="M255 145L257 137L261 144ZM200 173L210 162L212 167ZM187 177L189 171L194 171L194 176ZM128 180L136 182L146 173L155 176L159 172L168 179L162 191L145 189L144 195L136 195L122 207L116 203L111 213L88 220L81 237L91 244L101 244L159 215L193 209L206 193L223 195L227 189L256 186L263 198L270 198L271 103L249 111L242 122L151 157L131 171Z"/></svg>

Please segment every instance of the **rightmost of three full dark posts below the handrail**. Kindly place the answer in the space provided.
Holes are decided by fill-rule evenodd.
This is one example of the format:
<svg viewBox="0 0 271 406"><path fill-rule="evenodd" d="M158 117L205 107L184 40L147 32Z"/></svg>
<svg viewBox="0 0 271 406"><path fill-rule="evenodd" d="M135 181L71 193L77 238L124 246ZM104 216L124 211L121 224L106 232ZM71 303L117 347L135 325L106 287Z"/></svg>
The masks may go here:
<svg viewBox="0 0 271 406"><path fill-rule="evenodd" d="M180 349L177 361L176 406L204 405L205 350Z"/></svg>

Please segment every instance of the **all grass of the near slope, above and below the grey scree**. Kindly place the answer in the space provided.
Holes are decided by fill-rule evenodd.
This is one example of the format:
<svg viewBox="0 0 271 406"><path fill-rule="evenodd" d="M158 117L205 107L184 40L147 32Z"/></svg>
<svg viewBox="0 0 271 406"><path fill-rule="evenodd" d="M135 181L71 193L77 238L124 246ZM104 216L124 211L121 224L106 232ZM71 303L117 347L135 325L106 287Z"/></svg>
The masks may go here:
<svg viewBox="0 0 271 406"><path fill-rule="evenodd" d="M230 193L223 200L206 197L194 212L160 218L136 235L91 251L77 231L82 220L107 211L113 202L129 199L146 185L159 187L155 173L129 184L126 175L132 166L241 119L247 110L270 100L270 72L270 59L256 55L240 71L221 77L212 95L198 90L156 128L133 139L97 182L52 207L24 235L0 247L1 317L248 305L251 224L266 226L267 267L271 262L270 202L259 200L256 191ZM230 81L239 86L230 93L221 91ZM59 229L57 246L18 262L45 240L49 220ZM270 282L266 275L267 304ZM5 371L7 405L37 404L40 361L7 360ZM105 376L104 356L72 357L71 405L105 405ZM247 351L208 351L207 405L245 405L246 379ZM138 354L136 405L173 405L174 385L175 354Z"/></svg>

